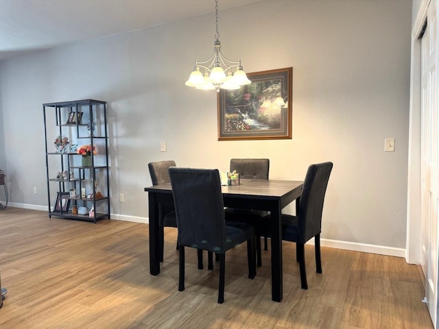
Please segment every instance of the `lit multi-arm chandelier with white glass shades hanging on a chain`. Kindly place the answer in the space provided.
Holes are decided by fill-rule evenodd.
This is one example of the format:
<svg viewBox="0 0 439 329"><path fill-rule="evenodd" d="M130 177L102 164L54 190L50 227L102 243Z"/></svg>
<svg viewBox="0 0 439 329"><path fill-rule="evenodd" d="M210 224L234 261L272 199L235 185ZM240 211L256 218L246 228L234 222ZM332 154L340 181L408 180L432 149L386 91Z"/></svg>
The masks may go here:
<svg viewBox="0 0 439 329"><path fill-rule="evenodd" d="M195 66L185 83L186 86L201 90L239 89L245 84L251 84L241 66L241 60L229 60L221 52L218 32L218 0L215 0L215 42L213 53L208 60L195 60ZM224 66L224 69L223 69ZM235 72L232 69L235 69ZM202 72L203 70L203 72Z"/></svg>

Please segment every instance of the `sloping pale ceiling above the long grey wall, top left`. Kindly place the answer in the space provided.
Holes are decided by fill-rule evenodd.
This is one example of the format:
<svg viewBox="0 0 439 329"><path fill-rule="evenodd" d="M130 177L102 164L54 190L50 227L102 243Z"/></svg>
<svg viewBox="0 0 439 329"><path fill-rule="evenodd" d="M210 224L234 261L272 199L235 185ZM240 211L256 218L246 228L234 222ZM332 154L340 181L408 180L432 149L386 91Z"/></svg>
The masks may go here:
<svg viewBox="0 0 439 329"><path fill-rule="evenodd" d="M261 0L219 0L218 10ZM0 0L0 60L215 12L213 0Z"/></svg>

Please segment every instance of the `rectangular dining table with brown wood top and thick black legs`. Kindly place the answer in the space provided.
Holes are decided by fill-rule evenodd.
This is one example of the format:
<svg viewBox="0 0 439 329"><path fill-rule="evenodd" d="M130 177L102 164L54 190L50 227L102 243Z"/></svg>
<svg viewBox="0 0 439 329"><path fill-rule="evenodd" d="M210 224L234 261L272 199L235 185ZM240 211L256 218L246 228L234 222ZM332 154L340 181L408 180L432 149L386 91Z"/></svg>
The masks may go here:
<svg viewBox="0 0 439 329"><path fill-rule="evenodd" d="M296 200L296 209L303 182L291 180L241 180L239 185L222 186L224 206L271 212L272 300L283 297L281 210ZM160 273L158 207L173 202L171 184L145 187L148 192L150 230L150 273Z"/></svg>

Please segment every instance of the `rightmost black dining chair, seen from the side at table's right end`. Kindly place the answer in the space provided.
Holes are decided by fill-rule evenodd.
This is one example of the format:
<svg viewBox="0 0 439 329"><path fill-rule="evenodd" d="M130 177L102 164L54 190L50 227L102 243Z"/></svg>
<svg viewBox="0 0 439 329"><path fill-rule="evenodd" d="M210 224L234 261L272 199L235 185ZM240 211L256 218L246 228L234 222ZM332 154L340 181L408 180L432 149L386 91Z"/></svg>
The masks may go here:
<svg viewBox="0 0 439 329"><path fill-rule="evenodd" d="M300 266L300 282L302 289L308 289L307 271L305 269L305 243L314 238L316 253L316 272L322 273L320 256L320 232L322 231L322 212L324 195L327 191L329 175L333 163L323 162L311 164L308 167L303 182L302 195L298 204L296 216L282 215L282 240L296 243L296 260ZM268 215L265 219L270 219ZM268 221L259 221L260 231L270 236Z"/></svg>

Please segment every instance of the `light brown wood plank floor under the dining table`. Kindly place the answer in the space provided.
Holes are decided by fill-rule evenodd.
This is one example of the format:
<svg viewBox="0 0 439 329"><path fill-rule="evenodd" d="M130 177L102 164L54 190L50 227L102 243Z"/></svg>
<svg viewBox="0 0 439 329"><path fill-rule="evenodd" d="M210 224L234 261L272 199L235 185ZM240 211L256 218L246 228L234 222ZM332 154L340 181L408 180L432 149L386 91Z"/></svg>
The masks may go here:
<svg viewBox="0 0 439 329"><path fill-rule="evenodd" d="M226 254L220 305L217 265L198 270L189 249L186 290L178 291L175 243L176 229L168 228L161 274L150 276L146 224L1 210L0 273L8 295L0 328L433 328L418 267L403 258L324 247L323 273L316 274L307 246L305 291L295 246L284 243L284 293L277 303L270 251L249 280L244 245Z"/></svg>

